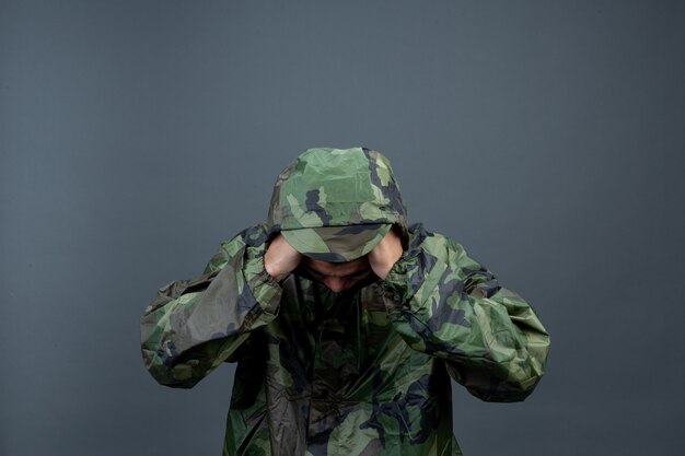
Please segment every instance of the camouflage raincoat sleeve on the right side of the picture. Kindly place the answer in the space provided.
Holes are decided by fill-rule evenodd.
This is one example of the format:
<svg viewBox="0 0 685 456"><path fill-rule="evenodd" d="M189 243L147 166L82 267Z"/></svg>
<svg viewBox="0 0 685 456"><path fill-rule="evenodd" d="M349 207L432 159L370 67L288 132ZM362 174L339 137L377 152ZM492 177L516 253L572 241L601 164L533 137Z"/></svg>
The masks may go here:
<svg viewBox="0 0 685 456"><path fill-rule="evenodd" d="M487 401L519 401L543 375L549 336L521 296L464 248L420 231L383 282L395 329Z"/></svg>

